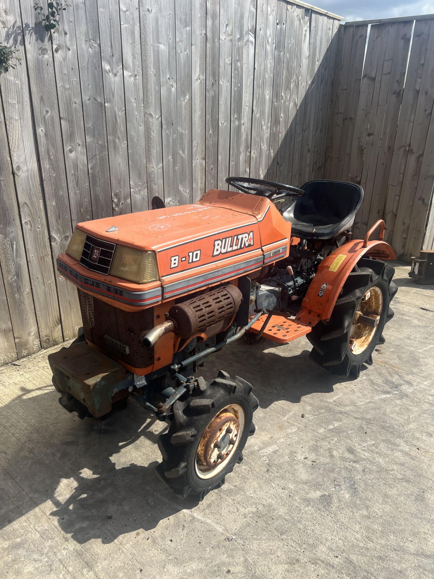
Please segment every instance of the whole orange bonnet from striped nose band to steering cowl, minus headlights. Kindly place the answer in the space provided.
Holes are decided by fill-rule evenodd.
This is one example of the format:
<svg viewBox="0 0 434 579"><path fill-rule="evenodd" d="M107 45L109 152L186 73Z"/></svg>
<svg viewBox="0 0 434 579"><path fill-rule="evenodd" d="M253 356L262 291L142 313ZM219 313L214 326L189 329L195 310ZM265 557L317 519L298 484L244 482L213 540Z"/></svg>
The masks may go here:
<svg viewBox="0 0 434 579"><path fill-rule="evenodd" d="M61 254L58 270L86 291L101 294L104 283L104 292L134 306L258 270L288 255L290 239L290 223L268 199L227 190L211 190L198 203L96 219L77 228L89 234L86 252L94 252L95 259L90 263L90 254L86 258L82 254L78 262ZM107 262L111 257L104 251L113 251L106 241L155 252L158 279L135 284L109 274L111 270L104 272L107 265L99 260ZM137 292L143 294L140 299Z"/></svg>

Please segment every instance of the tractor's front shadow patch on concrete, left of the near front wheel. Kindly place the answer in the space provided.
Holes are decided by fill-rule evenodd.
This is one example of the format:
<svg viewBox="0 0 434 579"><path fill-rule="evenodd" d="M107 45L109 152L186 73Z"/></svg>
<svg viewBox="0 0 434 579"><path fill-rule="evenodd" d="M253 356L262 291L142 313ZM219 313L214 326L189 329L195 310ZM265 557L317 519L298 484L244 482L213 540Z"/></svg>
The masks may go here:
<svg viewBox="0 0 434 579"><path fill-rule="evenodd" d="M157 476L164 423L141 406L130 401L104 421L79 420L57 404L52 386L38 390L23 389L0 408L5 427L10 416L30 418L19 444L13 437L5 442L3 466L23 500L19 508L2 501L0 528L49 501L49 515L76 543L108 544L131 532L146 541L160 521L197 506L195 498L178 499Z"/></svg>

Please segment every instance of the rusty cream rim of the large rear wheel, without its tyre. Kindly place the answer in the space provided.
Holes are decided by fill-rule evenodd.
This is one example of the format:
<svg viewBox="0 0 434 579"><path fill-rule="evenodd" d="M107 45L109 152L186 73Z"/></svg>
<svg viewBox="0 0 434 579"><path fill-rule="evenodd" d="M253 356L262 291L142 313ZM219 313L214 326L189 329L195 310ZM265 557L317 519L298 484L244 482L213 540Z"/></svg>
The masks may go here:
<svg viewBox="0 0 434 579"><path fill-rule="evenodd" d="M372 342L381 318L382 305L382 291L374 285L367 290L352 318L350 350L353 354L361 354Z"/></svg>

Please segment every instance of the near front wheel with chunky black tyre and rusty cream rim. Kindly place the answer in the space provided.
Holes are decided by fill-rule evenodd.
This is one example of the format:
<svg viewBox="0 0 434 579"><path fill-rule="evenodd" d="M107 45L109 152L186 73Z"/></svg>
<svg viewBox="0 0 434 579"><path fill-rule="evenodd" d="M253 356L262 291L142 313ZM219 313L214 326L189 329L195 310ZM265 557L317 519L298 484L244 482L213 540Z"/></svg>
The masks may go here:
<svg viewBox="0 0 434 579"><path fill-rule="evenodd" d="M198 378L192 396L175 402L170 428L158 439L163 461L157 467L175 494L202 500L225 483L255 432L258 405L251 384L222 371L215 380Z"/></svg>

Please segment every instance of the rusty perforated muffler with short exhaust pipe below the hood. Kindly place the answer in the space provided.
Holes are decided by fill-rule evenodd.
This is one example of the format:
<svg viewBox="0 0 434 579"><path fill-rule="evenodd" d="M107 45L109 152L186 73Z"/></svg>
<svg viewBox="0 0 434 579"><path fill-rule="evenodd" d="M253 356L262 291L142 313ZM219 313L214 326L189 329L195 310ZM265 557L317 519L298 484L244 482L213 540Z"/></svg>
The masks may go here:
<svg viewBox="0 0 434 579"><path fill-rule="evenodd" d="M201 332L215 336L230 324L241 301L240 290L228 284L177 303L170 308L167 320L146 334L143 343L146 347L154 346L169 332L174 332L179 338L190 338Z"/></svg>

